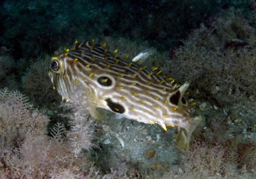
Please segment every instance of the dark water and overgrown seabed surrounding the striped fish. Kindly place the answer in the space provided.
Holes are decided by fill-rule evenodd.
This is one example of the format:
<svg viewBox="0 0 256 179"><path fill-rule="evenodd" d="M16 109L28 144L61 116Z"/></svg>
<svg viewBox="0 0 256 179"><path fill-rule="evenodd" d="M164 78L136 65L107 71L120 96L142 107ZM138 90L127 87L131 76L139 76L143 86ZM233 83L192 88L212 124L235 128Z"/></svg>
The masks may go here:
<svg viewBox="0 0 256 179"><path fill-rule="evenodd" d="M0 178L256 178L256 2L1 1ZM104 120L62 102L51 57L106 42L189 81L189 150L177 129Z"/></svg>

